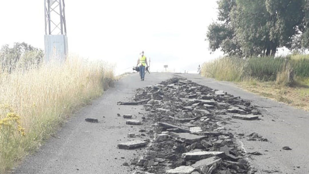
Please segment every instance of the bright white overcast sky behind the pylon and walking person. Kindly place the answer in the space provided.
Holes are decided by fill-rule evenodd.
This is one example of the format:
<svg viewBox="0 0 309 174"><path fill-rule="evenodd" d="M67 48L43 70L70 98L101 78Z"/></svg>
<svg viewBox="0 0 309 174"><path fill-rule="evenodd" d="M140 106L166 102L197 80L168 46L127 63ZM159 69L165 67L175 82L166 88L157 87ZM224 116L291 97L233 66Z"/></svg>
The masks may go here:
<svg viewBox="0 0 309 174"><path fill-rule="evenodd" d="M152 72L196 72L210 54L207 26L216 0L65 0L70 53L132 70L144 50ZM44 0L0 0L0 46L26 42L44 49ZM128 69L126 69L128 68Z"/></svg>

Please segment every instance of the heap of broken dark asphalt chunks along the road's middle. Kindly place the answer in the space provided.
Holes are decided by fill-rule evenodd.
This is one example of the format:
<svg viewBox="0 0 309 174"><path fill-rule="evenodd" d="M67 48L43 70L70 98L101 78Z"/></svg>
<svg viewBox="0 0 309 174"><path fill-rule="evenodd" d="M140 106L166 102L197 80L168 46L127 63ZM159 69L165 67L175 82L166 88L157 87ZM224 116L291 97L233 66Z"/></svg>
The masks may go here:
<svg viewBox="0 0 309 174"><path fill-rule="evenodd" d="M146 146L146 154L123 165L145 174L234 174L255 173L244 159L235 138L224 127L226 120L256 120L261 113L250 102L190 80L172 78L158 85L137 89L134 102L149 114L126 124L149 125L141 129L144 141L118 144L119 149ZM225 115L225 117L222 117ZM230 117L226 118L227 115ZM131 115L123 115L130 119ZM128 133L128 137L135 137ZM252 134L252 141L268 141ZM253 140L255 139L255 140Z"/></svg>

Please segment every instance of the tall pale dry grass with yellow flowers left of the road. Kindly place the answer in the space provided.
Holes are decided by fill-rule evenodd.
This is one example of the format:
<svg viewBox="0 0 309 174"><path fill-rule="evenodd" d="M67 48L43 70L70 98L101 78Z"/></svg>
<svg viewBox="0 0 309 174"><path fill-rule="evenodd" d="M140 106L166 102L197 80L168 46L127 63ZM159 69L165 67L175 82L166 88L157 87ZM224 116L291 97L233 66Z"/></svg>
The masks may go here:
<svg viewBox="0 0 309 174"><path fill-rule="evenodd" d="M113 82L113 66L70 57L28 71L0 72L0 173L14 167L79 107Z"/></svg>

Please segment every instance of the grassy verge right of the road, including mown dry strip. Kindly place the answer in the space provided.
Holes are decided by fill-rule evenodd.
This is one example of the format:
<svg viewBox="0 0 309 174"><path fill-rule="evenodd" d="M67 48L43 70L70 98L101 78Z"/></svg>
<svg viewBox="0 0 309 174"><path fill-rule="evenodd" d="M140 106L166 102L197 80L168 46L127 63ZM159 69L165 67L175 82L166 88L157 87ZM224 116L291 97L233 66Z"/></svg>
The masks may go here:
<svg viewBox="0 0 309 174"><path fill-rule="evenodd" d="M288 84L287 69L294 70L293 83ZM309 55L246 60L224 57L204 63L201 74L234 81L252 93L309 111Z"/></svg>

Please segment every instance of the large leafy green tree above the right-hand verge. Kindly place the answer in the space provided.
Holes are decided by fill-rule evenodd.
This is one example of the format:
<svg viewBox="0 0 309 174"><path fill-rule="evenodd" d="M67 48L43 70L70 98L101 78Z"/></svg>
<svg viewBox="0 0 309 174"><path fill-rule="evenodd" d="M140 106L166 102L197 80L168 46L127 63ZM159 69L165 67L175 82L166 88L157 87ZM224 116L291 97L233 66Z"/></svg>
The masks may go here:
<svg viewBox="0 0 309 174"><path fill-rule="evenodd" d="M304 2L219 0L218 22L210 24L207 32L210 49L220 48L228 55L269 56L280 46L292 48L295 34L303 29Z"/></svg>

